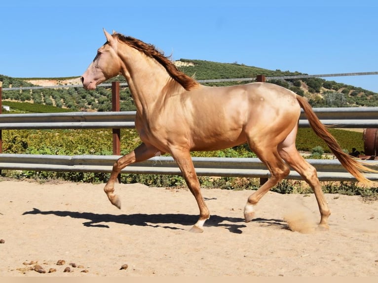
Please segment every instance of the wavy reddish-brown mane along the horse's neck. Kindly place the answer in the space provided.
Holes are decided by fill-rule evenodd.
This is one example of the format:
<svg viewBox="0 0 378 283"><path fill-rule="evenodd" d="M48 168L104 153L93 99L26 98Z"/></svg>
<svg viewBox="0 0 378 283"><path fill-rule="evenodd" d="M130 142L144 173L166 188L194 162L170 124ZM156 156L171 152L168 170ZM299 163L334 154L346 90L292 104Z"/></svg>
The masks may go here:
<svg viewBox="0 0 378 283"><path fill-rule="evenodd" d="M191 90L199 85L196 80L180 71L169 59L170 57L164 56L164 53L158 51L154 45L145 43L142 40L131 36L125 36L117 33L113 34L113 36L126 43L127 45L143 52L147 56L155 59L165 68L165 70L167 70L169 75L179 84L181 84L186 90Z"/></svg>

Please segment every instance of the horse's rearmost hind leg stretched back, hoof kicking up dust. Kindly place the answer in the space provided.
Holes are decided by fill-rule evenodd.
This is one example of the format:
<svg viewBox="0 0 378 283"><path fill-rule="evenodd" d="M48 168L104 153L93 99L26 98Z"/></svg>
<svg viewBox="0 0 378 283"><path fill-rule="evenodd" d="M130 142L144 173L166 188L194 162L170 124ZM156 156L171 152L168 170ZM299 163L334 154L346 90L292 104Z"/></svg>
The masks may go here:
<svg viewBox="0 0 378 283"><path fill-rule="evenodd" d="M297 128L293 129L285 141L279 144L278 152L282 159L285 160L290 167L297 171L311 186L312 190L314 191L321 216L319 228L328 229L327 222L331 212L328 208L327 201L323 194L315 168L302 157L295 146L296 135Z"/></svg>

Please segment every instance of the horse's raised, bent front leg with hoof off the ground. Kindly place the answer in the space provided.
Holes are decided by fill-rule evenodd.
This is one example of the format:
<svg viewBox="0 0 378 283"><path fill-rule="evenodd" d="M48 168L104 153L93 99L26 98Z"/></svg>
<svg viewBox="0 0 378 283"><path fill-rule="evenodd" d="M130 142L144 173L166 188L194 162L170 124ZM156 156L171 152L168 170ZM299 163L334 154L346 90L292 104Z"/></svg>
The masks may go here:
<svg viewBox="0 0 378 283"><path fill-rule="evenodd" d="M147 160L153 157L158 149L153 147L152 145L147 145L146 143L140 144L137 148L131 151L129 154L126 154L120 157L113 165L112 174L108 182L105 185L104 191L107 194L110 202L116 206L117 208L121 209L121 202L116 194L114 194L114 183L123 168L127 165Z"/></svg>

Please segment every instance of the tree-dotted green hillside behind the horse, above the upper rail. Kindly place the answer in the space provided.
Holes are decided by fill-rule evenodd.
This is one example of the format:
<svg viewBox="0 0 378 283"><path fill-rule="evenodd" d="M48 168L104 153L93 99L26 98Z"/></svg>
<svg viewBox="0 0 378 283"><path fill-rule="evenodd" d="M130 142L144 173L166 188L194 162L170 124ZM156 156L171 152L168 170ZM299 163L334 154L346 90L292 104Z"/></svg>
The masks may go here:
<svg viewBox="0 0 378 283"><path fill-rule="evenodd" d="M203 60L180 59L175 62L181 71L198 80L223 78L249 78L258 74L265 76L299 75L300 72L266 70L257 67L245 66L237 63L217 63ZM122 76L110 81L124 82ZM378 106L378 94L321 78L269 80L268 82L282 85L309 99L314 107L342 107L342 106ZM206 83L211 86L231 85L241 82ZM3 88L20 86L51 86L51 85L77 85L79 77L62 78L13 78L0 75L0 84ZM82 87L61 89L38 89L27 91L7 90L2 92L3 101L29 102L39 105L58 107L70 111L109 111L111 110L110 88L99 87L95 91L86 91ZM121 88L121 110L135 110L133 100L128 88ZM4 103L3 103L4 104ZM17 106L16 106L17 108ZM14 108L13 108L14 109ZM21 110L28 112L28 110ZM32 110L34 111L34 110Z"/></svg>

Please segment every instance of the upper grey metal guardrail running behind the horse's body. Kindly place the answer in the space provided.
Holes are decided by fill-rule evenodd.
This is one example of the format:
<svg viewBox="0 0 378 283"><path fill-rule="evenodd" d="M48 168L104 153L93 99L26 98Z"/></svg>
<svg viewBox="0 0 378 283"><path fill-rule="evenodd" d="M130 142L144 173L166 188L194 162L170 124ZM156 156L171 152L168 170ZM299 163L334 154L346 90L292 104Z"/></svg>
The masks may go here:
<svg viewBox="0 0 378 283"><path fill-rule="evenodd" d="M339 128L378 128L378 107L313 108L323 124ZM135 111L2 114L0 129L134 128ZM300 127L309 127L302 112Z"/></svg>

